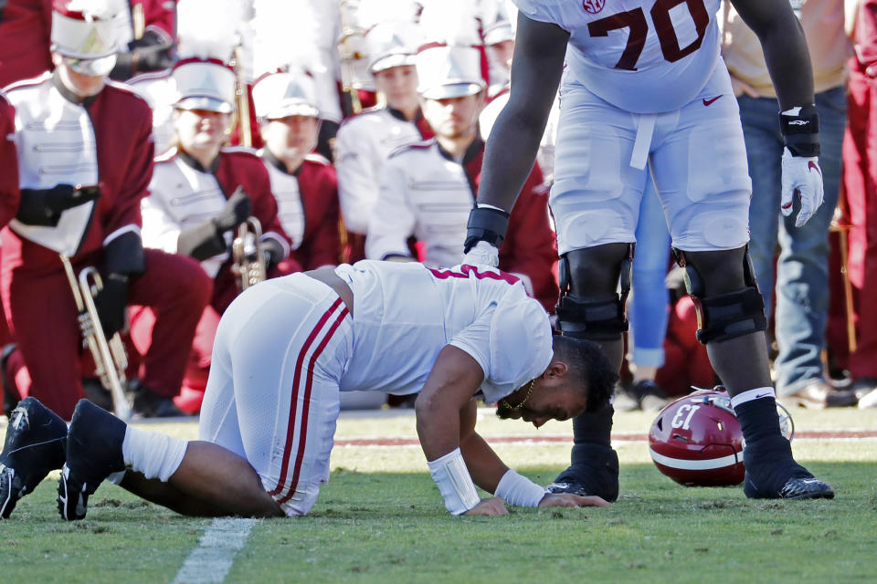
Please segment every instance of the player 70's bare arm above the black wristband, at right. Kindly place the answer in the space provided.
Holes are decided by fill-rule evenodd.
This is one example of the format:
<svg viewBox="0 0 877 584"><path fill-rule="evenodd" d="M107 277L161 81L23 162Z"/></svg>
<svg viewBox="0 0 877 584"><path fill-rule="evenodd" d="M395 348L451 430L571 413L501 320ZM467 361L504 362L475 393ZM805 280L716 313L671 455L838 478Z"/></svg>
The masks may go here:
<svg viewBox="0 0 877 584"><path fill-rule="evenodd" d="M788 0L731 0L761 41L782 110L814 103L807 39Z"/></svg>

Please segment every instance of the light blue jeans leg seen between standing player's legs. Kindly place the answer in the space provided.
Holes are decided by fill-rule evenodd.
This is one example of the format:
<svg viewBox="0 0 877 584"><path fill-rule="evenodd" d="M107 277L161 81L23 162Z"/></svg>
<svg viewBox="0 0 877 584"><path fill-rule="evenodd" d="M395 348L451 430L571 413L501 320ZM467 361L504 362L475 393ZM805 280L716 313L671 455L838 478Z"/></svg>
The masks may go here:
<svg viewBox="0 0 877 584"><path fill-rule="evenodd" d="M664 285L664 276L667 276L671 242L651 174L639 203L636 234L630 299L631 361L643 367L660 367L664 364L664 337L670 318L670 294Z"/></svg>

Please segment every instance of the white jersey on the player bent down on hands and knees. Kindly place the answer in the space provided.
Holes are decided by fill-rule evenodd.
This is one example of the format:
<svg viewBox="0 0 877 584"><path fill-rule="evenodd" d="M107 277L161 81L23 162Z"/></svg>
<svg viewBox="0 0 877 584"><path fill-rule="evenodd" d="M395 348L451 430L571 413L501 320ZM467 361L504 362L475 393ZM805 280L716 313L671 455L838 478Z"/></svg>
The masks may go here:
<svg viewBox="0 0 877 584"><path fill-rule="evenodd" d="M420 391L439 351L478 361L494 402L551 362L551 325L516 277L487 266L432 269L363 260L335 268L354 292L354 349L341 391Z"/></svg>

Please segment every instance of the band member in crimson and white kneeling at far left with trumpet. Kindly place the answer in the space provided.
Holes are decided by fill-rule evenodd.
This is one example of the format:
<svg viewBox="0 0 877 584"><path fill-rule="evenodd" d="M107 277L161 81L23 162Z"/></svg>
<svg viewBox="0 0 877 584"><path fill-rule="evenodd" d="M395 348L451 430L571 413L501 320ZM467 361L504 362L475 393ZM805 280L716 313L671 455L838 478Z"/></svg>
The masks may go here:
<svg viewBox="0 0 877 584"><path fill-rule="evenodd" d="M209 297L209 279L194 262L143 250L140 201L153 171L152 122L142 99L107 78L119 10L107 0L55 0L55 71L7 91L16 107L22 198L2 234L0 292L18 343L5 360L6 381L67 418L82 396L81 339L58 254L69 255L77 271L101 268L95 302L108 336L124 326L128 305L156 315L134 396L135 412L146 416L179 413L171 397L185 370L180 348L191 344Z"/></svg>

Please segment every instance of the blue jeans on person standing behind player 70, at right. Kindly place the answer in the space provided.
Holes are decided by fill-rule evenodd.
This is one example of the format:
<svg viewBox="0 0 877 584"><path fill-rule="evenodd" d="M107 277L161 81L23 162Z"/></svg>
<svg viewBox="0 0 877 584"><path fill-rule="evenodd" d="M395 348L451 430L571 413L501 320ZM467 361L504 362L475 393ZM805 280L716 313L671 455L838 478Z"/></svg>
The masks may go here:
<svg viewBox="0 0 877 584"><path fill-rule="evenodd" d="M816 96L825 201L807 224L795 227L795 214L783 217L780 206L780 158L777 99L741 96L740 119L746 158L752 178L749 206L749 250L758 286L770 316L774 295L774 255L777 259L776 337L779 355L777 392L790 395L809 382L823 379L821 351L829 310L829 224L838 204L840 149L847 121L843 87Z"/></svg>

